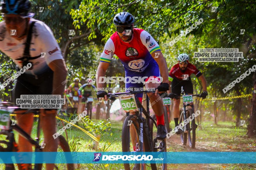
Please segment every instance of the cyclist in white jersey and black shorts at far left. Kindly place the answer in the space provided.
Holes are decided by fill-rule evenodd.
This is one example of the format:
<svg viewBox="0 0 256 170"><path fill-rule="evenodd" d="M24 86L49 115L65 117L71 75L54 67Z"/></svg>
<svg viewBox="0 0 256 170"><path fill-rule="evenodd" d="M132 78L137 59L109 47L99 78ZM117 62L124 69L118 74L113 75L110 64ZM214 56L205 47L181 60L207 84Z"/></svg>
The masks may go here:
<svg viewBox="0 0 256 170"><path fill-rule="evenodd" d="M1 13L3 20L0 23L0 50L17 64L17 69L30 66L17 78L14 89L14 102L21 95L61 95L65 86L61 84L66 79L67 68L61 54L60 47L54 38L51 29L42 21L32 19L34 14L29 13L29 0L3 0ZM26 113L27 109L15 111ZM56 110L40 109L41 127L45 137L44 151L56 152L58 139L56 133ZM33 114L17 114L19 126L31 134ZM19 136L19 151L31 152L31 144ZM54 164L47 164L47 170L54 169ZM31 164L26 164L30 169Z"/></svg>

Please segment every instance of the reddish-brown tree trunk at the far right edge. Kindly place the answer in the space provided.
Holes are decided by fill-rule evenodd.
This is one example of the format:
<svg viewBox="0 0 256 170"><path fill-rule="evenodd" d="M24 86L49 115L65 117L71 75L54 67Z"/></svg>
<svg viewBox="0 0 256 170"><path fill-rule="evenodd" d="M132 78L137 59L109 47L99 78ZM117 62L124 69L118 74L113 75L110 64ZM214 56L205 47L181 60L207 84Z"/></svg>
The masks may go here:
<svg viewBox="0 0 256 170"><path fill-rule="evenodd" d="M249 118L249 124L247 127L247 135L248 137L256 137L256 72L253 74L253 98L252 98L252 106Z"/></svg>

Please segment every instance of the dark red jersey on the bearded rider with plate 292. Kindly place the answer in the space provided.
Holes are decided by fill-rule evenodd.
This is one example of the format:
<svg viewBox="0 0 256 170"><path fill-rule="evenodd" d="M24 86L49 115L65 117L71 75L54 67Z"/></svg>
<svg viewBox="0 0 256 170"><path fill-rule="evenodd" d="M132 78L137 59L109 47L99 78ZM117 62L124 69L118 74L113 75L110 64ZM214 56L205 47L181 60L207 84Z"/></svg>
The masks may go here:
<svg viewBox="0 0 256 170"><path fill-rule="evenodd" d="M189 78L191 74L195 74L197 77L201 76L202 73L193 65L188 63L185 72L182 72L179 64L175 64L169 73L169 81L173 81L173 78L178 80L183 80L184 78Z"/></svg>

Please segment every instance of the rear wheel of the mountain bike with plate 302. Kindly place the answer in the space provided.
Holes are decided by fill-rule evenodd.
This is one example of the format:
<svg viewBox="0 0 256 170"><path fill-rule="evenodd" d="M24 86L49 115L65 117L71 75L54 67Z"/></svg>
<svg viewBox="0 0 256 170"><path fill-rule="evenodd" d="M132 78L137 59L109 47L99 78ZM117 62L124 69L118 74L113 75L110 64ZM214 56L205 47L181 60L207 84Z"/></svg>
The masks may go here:
<svg viewBox="0 0 256 170"><path fill-rule="evenodd" d="M155 114L151 115L151 117L155 121L157 121ZM152 120L150 120L149 127L150 127L150 131L151 131L151 139L153 140L153 147L149 151L150 152L167 152L166 139L163 139L163 140L155 139L157 137L157 127L154 125L154 122ZM156 145L156 143L159 143L159 144ZM167 159L167 157L166 157L166 155L164 155L164 160L166 160L166 159ZM167 164L164 164L164 163L151 164L151 169L152 170L167 170Z"/></svg>

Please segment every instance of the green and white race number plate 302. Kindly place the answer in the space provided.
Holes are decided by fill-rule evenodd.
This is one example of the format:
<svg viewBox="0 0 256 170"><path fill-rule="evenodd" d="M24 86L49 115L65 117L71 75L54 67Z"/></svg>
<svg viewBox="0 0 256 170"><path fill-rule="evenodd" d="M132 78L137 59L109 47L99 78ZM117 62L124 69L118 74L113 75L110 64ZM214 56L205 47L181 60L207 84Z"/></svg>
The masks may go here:
<svg viewBox="0 0 256 170"><path fill-rule="evenodd" d="M119 96L119 100L124 112L138 111L134 94Z"/></svg>

